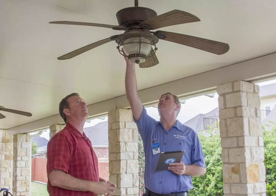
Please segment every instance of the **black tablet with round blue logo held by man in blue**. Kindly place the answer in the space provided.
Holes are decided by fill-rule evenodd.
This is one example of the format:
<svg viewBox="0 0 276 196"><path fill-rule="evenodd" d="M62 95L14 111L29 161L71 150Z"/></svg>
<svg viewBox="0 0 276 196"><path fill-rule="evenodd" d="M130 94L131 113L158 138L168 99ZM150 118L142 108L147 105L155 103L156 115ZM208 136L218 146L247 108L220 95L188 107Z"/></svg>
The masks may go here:
<svg viewBox="0 0 276 196"><path fill-rule="evenodd" d="M180 163L185 150L161 152L155 170L167 170L170 163Z"/></svg>

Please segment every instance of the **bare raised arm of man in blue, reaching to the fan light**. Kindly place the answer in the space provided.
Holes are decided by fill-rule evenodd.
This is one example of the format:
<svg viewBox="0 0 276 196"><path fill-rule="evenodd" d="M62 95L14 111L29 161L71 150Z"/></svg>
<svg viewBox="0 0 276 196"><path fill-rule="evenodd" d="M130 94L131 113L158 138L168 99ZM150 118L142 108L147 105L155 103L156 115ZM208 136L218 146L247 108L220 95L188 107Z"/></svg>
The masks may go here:
<svg viewBox="0 0 276 196"><path fill-rule="evenodd" d="M143 111L143 104L137 95L135 63L130 62L127 57L125 57L125 61L125 93L130 104L133 117L136 121L139 121Z"/></svg>

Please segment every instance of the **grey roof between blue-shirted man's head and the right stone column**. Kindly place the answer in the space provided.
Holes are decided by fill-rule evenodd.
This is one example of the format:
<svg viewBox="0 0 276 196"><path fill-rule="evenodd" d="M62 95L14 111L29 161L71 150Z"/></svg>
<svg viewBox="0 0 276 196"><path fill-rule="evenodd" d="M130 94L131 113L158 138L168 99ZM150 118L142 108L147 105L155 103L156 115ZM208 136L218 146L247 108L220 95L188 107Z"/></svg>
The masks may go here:
<svg viewBox="0 0 276 196"><path fill-rule="evenodd" d="M216 107L212 111L209 111L206 114L199 114L196 115L194 118L188 120L186 123L183 123L186 126L189 126L192 128L195 132L200 132L201 130L204 130L204 124L203 124L203 118L210 117L210 116L218 116L219 115L219 109Z"/></svg>

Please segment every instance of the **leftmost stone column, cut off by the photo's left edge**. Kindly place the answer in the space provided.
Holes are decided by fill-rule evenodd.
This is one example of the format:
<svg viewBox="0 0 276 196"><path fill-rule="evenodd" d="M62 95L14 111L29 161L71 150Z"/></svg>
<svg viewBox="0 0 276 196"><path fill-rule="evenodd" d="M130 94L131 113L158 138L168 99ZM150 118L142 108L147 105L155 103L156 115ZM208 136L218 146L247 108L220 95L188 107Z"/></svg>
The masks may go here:
<svg viewBox="0 0 276 196"><path fill-rule="evenodd" d="M0 187L13 191L13 136L0 130Z"/></svg>

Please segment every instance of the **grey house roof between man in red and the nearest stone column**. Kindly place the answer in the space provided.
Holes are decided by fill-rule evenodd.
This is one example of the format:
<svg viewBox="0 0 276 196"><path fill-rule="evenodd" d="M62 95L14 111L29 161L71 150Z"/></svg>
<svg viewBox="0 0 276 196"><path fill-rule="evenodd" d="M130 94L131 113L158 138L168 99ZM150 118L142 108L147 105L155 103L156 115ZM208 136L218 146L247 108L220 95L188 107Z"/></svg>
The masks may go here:
<svg viewBox="0 0 276 196"><path fill-rule="evenodd" d="M83 129L90 139L92 146L108 146L108 123L107 121Z"/></svg>

